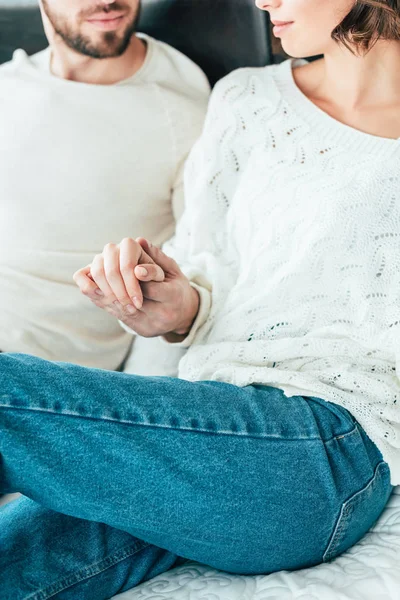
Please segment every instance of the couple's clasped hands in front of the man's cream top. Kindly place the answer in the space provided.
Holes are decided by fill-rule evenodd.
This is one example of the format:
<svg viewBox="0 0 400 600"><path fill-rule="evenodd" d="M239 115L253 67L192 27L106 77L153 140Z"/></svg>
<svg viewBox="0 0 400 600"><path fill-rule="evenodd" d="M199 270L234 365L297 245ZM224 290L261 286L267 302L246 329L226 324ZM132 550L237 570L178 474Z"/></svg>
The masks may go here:
<svg viewBox="0 0 400 600"><path fill-rule="evenodd" d="M96 306L143 337L179 341L199 310L199 295L177 263L144 238L107 244L74 281Z"/></svg>

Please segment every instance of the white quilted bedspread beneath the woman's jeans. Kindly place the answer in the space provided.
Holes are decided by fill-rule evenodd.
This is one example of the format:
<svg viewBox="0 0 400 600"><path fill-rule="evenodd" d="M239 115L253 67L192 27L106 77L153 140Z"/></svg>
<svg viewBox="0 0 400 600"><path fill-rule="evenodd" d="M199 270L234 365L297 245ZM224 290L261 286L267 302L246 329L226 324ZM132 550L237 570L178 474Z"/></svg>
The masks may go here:
<svg viewBox="0 0 400 600"><path fill-rule="evenodd" d="M400 600L400 487L364 539L329 564L242 577L189 562L117 599Z"/></svg>

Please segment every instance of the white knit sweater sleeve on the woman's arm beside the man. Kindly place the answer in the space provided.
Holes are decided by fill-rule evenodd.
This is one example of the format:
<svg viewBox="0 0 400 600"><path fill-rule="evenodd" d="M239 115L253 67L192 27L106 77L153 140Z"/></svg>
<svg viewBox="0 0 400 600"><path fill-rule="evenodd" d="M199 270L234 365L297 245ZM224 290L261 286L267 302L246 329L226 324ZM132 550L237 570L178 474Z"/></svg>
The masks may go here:
<svg viewBox="0 0 400 600"><path fill-rule="evenodd" d="M185 210L175 236L163 245L200 295L199 313L188 336L192 344L213 305L234 285L238 260L228 236L228 212L245 161L245 129L236 114L240 81L235 74L214 88L200 139L185 167ZM164 340L165 343L170 343ZM178 344L175 344L178 345Z"/></svg>

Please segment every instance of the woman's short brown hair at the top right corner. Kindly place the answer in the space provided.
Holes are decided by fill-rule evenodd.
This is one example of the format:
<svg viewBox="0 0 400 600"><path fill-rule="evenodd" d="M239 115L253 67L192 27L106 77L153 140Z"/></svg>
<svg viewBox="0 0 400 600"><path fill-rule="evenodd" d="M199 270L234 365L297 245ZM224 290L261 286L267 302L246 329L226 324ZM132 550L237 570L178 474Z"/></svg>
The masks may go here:
<svg viewBox="0 0 400 600"><path fill-rule="evenodd" d="M357 0L332 39L353 54L368 52L379 39L400 41L400 0Z"/></svg>

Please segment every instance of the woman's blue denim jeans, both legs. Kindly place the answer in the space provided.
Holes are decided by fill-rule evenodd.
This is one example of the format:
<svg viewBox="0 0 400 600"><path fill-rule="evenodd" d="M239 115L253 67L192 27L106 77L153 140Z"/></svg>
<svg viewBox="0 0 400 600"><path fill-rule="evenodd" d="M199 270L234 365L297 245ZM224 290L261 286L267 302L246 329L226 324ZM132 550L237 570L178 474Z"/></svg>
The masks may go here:
<svg viewBox="0 0 400 600"><path fill-rule="evenodd" d="M300 569L355 544L392 487L344 408L0 355L1 600L102 600L193 559Z"/></svg>

